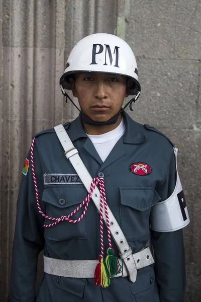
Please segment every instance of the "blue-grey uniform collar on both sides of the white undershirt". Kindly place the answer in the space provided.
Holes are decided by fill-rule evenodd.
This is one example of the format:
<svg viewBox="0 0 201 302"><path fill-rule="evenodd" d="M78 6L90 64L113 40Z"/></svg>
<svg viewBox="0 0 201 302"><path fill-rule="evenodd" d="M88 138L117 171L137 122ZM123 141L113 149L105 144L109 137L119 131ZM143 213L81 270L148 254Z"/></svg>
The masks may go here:
<svg viewBox="0 0 201 302"><path fill-rule="evenodd" d="M143 143L145 136L141 131L141 125L135 122L125 111L122 112L122 116L126 125L126 131L123 136L124 143ZM66 124L65 129L68 129L68 135L72 141L81 137L88 137L84 131L80 115L72 122Z"/></svg>

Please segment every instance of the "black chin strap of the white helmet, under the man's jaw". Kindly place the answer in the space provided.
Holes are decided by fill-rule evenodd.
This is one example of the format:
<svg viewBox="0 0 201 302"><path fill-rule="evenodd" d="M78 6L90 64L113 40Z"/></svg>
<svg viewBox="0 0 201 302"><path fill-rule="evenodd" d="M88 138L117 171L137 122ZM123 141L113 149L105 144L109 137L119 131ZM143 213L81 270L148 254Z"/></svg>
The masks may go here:
<svg viewBox="0 0 201 302"><path fill-rule="evenodd" d="M87 115L85 115L76 105L75 103L73 102L73 100L69 97L69 95L65 92L65 90L63 89L62 85L60 85L60 88L61 88L61 92L62 94L65 96L66 98L66 103L68 101L68 99L70 100L70 102L77 108L77 110L79 110L80 114L81 114L81 119L82 119L82 122L84 124L87 124L87 125L91 125L91 126L107 126L107 125L113 125L117 122L118 120L118 117L120 116L121 112L129 105L129 108L131 111L133 111L133 108L132 108L132 103L138 99L139 95L140 95L140 91L137 93L136 97L133 98L132 100L130 100L126 106L124 108L121 108L120 111L115 115L113 116L111 119L109 119L108 121L106 122L96 122L96 121L93 121L92 119L90 119Z"/></svg>

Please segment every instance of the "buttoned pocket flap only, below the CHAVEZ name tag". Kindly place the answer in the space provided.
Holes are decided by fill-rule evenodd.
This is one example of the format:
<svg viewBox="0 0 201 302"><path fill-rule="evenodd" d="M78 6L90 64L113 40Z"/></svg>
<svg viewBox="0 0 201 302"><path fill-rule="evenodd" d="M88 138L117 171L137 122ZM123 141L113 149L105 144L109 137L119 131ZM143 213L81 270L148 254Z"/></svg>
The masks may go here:
<svg viewBox="0 0 201 302"><path fill-rule="evenodd" d="M42 200L55 205L56 207L66 208L81 203L87 196L85 188L45 188Z"/></svg>

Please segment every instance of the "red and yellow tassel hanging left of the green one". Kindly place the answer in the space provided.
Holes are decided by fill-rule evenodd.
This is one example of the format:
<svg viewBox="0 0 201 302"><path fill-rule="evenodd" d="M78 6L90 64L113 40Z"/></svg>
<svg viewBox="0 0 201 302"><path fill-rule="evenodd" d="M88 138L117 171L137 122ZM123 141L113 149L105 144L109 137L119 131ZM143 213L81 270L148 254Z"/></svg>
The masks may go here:
<svg viewBox="0 0 201 302"><path fill-rule="evenodd" d="M95 285L108 287L110 285L110 276L106 267L105 258L99 257L99 263L96 265L94 272Z"/></svg>

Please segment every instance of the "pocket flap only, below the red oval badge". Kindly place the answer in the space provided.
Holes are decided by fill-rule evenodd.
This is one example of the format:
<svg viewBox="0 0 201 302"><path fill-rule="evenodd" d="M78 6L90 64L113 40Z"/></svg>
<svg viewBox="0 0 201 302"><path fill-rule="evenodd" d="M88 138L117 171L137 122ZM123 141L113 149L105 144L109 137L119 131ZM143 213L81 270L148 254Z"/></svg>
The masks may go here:
<svg viewBox="0 0 201 302"><path fill-rule="evenodd" d="M145 211L160 200L155 188L120 188L121 204Z"/></svg>

